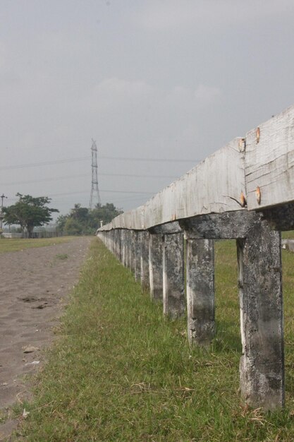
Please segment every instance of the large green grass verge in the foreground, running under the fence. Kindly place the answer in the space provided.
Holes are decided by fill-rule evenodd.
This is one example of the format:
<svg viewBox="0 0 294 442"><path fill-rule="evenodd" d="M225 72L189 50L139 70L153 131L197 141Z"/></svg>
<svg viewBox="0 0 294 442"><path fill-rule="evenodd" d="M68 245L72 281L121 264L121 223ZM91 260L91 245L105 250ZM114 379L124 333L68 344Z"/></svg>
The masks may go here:
<svg viewBox="0 0 294 442"><path fill-rule="evenodd" d="M293 441L294 257L283 251L286 393L281 412L240 402L233 241L216 243L216 339L191 350L185 321L162 317L129 271L94 240L20 433L35 442Z"/></svg>

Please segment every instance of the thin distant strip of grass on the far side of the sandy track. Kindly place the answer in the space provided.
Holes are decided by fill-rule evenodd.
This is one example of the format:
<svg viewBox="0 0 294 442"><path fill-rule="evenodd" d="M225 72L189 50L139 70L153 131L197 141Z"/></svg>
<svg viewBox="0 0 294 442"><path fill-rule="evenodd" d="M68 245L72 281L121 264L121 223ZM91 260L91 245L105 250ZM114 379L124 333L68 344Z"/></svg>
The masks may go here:
<svg viewBox="0 0 294 442"><path fill-rule="evenodd" d="M56 237L56 238L40 238L40 239L8 239L0 238L0 253L8 251L20 251L24 249L31 249L32 247L52 246L54 244L63 244L72 241L77 237Z"/></svg>

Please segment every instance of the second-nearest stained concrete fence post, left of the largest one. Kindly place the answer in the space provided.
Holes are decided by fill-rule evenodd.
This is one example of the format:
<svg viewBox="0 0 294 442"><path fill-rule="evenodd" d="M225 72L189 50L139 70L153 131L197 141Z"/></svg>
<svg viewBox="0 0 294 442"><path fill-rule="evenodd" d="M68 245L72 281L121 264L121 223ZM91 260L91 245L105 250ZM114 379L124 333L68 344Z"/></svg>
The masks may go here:
<svg viewBox="0 0 294 442"><path fill-rule="evenodd" d="M208 347L214 338L214 241L187 239L188 340Z"/></svg>

